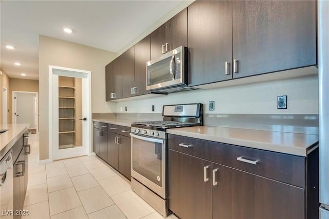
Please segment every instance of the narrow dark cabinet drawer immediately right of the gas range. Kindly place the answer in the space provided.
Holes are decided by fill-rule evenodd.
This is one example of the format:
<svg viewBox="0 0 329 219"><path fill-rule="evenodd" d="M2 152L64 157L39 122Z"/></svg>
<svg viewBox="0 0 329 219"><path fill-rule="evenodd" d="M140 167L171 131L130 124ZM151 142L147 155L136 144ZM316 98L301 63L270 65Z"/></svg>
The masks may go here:
<svg viewBox="0 0 329 219"><path fill-rule="evenodd" d="M216 143L197 138L168 134L169 149L211 161L211 147ZM185 147L184 147L185 146Z"/></svg>

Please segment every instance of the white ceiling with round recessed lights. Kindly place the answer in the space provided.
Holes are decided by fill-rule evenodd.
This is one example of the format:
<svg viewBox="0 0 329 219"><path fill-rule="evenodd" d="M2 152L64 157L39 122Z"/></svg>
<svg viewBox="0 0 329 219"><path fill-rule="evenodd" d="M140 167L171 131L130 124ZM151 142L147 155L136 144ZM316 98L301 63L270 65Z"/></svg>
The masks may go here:
<svg viewBox="0 0 329 219"><path fill-rule="evenodd" d="M0 1L1 68L38 79L39 35L118 52L181 1Z"/></svg>

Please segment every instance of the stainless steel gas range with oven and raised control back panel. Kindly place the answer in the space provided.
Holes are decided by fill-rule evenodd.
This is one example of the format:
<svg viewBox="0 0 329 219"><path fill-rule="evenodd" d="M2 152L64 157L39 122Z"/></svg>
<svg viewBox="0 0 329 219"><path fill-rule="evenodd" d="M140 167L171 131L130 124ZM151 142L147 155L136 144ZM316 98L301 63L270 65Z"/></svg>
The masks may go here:
<svg viewBox="0 0 329 219"><path fill-rule="evenodd" d="M163 216L168 210L167 132L203 125L203 104L166 105L163 121L132 123L132 190Z"/></svg>

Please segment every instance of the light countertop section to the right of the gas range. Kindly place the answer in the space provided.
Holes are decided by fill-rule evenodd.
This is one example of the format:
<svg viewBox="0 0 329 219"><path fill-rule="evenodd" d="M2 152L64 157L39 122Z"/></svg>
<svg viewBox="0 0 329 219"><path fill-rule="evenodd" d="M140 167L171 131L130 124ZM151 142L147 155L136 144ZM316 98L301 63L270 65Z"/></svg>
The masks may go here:
<svg viewBox="0 0 329 219"><path fill-rule="evenodd" d="M168 129L167 133L299 156L306 156L319 142L313 134L211 126Z"/></svg>

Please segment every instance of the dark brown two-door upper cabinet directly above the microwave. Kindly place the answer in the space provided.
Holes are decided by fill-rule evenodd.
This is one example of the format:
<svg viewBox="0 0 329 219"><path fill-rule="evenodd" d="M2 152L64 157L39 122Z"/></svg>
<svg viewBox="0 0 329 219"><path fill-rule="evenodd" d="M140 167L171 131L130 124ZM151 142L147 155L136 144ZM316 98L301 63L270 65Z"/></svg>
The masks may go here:
<svg viewBox="0 0 329 219"><path fill-rule="evenodd" d="M151 59L187 46L187 8L151 33Z"/></svg>

